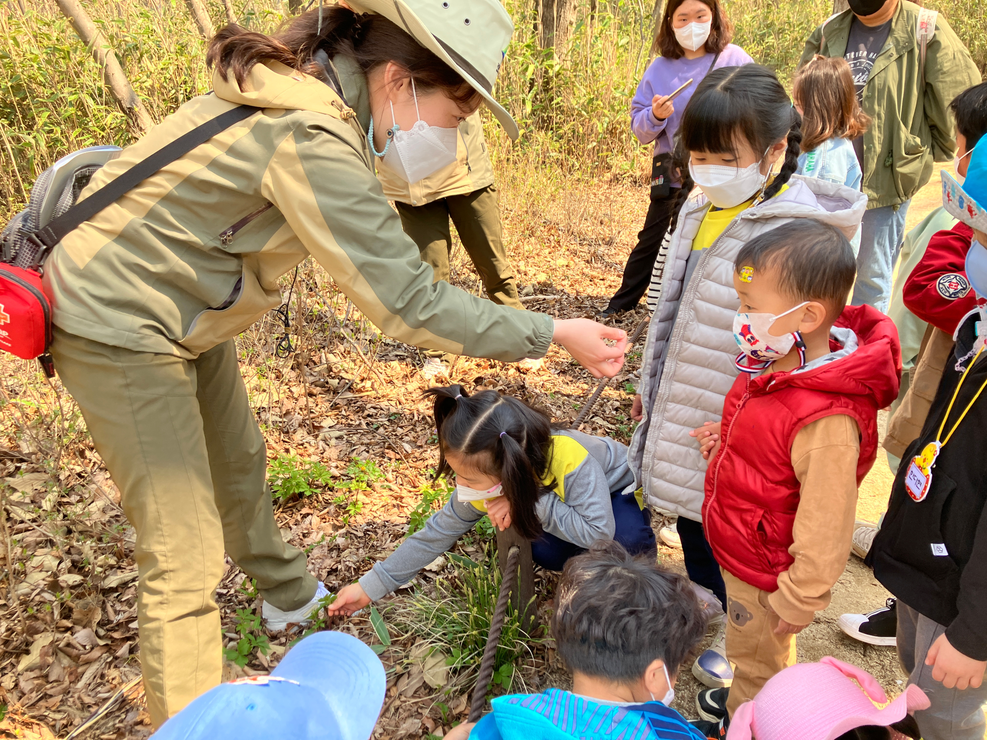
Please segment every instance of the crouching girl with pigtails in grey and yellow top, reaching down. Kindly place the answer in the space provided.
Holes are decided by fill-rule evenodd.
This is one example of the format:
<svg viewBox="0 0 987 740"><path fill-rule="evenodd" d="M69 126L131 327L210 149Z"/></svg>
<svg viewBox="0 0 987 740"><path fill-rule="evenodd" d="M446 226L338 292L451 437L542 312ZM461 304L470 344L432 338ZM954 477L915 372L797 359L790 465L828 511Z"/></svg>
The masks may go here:
<svg viewBox="0 0 987 740"><path fill-rule="evenodd" d="M535 562L562 570L597 540L656 555L650 512L635 495L627 447L557 428L544 411L496 391L430 388L438 431L435 477L456 489L424 529L342 588L330 614L352 614L410 581L484 516L531 541Z"/></svg>

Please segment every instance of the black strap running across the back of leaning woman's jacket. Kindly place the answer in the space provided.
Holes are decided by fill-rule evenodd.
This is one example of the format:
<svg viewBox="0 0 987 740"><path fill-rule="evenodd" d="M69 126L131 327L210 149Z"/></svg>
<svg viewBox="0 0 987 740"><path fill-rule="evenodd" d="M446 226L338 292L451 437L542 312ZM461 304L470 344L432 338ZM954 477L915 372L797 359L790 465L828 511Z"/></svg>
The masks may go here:
<svg viewBox="0 0 987 740"><path fill-rule="evenodd" d="M40 248L38 264L44 259L47 252L64 239L70 231L84 221L91 219L124 193L140 185L163 167L181 159L199 144L204 144L216 134L261 110L255 106L238 106L210 118L138 162L89 197L80 200L58 218L52 219L46 226L28 237L31 241L36 242Z"/></svg>

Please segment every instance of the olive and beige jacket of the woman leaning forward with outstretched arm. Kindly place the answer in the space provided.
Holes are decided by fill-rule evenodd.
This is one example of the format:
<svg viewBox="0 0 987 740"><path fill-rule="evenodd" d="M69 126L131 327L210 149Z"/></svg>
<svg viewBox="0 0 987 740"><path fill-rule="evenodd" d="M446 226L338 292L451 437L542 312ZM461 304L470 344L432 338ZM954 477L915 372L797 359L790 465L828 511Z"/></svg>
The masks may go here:
<svg viewBox="0 0 987 740"><path fill-rule="evenodd" d="M214 74L215 95L191 100L98 171L84 196L223 111L264 109L55 247L44 273L54 323L194 358L280 304L277 278L311 255L389 336L501 360L545 354L550 317L432 284L374 175L366 78L354 62L335 61L345 100L276 62L255 66L243 90Z"/></svg>

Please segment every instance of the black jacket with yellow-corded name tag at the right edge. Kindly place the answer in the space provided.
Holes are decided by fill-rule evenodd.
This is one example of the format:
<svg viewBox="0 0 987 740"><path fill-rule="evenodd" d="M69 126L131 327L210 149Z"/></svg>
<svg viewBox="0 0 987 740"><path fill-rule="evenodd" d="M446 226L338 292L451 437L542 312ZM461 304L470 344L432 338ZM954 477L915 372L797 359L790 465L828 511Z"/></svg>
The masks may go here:
<svg viewBox="0 0 987 740"><path fill-rule="evenodd" d="M964 365L970 362L977 319L973 314L963 322L922 434L902 456L887 514L867 561L888 591L945 625L953 647L987 660L987 389L940 451L926 498L916 502L905 489L912 458L936 439L959 383L957 355L966 356ZM963 381L943 439L985 381L987 349Z"/></svg>

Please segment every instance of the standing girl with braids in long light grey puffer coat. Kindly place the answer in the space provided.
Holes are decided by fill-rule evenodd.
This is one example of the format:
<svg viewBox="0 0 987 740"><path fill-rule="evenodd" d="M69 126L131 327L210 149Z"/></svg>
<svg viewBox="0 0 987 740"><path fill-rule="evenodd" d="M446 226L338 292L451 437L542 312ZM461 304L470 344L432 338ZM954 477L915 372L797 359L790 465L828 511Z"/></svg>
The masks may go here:
<svg viewBox="0 0 987 740"><path fill-rule="evenodd" d="M661 539L681 542L689 577L724 605L720 566L702 525L707 463L691 432L719 421L737 374L734 258L754 237L797 218L830 224L852 239L867 208L859 190L795 174L800 124L767 67L723 67L703 79L676 135L683 186L667 259L655 265L660 277L652 275L660 287L632 411L641 423L628 460L651 507L678 517L677 537L662 530ZM732 682L723 644L721 629L693 667L707 686Z"/></svg>

